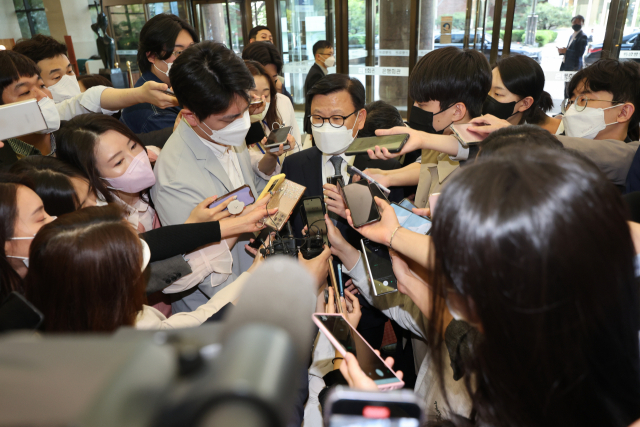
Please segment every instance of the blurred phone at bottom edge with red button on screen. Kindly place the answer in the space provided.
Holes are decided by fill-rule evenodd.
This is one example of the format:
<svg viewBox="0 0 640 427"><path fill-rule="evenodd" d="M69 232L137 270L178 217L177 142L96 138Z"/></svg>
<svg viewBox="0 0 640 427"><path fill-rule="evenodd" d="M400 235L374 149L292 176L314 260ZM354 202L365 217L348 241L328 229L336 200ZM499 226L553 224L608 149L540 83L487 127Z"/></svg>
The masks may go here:
<svg viewBox="0 0 640 427"><path fill-rule="evenodd" d="M421 399L410 390L378 393L338 386L324 406L325 427L420 427Z"/></svg>

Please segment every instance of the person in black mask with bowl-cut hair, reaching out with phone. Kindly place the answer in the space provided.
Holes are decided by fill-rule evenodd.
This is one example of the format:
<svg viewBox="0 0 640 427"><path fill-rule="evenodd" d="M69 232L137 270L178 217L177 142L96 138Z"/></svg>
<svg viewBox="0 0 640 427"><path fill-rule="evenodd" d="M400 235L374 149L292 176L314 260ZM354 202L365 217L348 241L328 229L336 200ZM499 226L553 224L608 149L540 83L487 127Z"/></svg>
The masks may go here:
<svg viewBox="0 0 640 427"><path fill-rule="evenodd" d="M465 150L453 136L445 135L450 133L447 128L480 116L490 89L491 67L482 53L453 46L429 52L418 61L409 77L409 96L414 99L409 127L429 134L422 135L422 139L428 141L431 149L423 149L420 158L401 169L364 172L386 187L418 185L415 204L426 208L429 195L437 193L458 169L456 158ZM382 133L378 131L378 135L407 132L406 127L395 127ZM410 130L409 133L413 134ZM409 154L410 150L415 148L405 145L402 154ZM380 150L373 154L380 159L400 155Z"/></svg>

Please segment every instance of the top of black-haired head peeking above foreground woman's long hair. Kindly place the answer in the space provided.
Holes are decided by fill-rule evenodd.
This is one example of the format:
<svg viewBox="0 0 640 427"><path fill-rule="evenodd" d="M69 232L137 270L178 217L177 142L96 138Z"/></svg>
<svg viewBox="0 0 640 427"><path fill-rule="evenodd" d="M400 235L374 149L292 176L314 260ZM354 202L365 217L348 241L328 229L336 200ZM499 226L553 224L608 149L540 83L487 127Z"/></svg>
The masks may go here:
<svg viewBox="0 0 640 427"><path fill-rule="evenodd" d="M563 150L558 138L536 125L507 126L498 129L480 142L478 156L487 157L506 147L545 147L553 150Z"/></svg>

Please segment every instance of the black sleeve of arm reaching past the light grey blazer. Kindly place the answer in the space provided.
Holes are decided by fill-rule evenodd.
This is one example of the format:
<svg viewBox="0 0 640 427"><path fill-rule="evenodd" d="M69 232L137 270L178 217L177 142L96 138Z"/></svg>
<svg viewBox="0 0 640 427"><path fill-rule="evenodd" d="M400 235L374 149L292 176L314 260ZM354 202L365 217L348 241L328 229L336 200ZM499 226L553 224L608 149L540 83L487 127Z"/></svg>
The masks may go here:
<svg viewBox="0 0 640 427"><path fill-rule="evenodd" d="M151 250L149 262L160 261L194 251L222 239L218 221L199 224L166 225L140 234Z"/></svg>

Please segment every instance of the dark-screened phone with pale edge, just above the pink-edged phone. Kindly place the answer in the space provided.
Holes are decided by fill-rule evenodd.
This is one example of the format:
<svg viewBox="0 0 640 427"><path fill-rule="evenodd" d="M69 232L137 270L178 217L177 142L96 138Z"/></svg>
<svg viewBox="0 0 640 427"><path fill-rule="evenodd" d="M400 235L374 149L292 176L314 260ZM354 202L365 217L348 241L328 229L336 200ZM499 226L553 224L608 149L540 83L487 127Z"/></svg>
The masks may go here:
<svg viewBox="0 0 640 427"><path fill-rule="evenodd" d="M398 279L393 274L393 265L389 256L389 248L369 239L361 239L362 254L369 274L369 282L373 285L376 296L398 291Z"/></svg>

